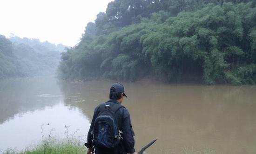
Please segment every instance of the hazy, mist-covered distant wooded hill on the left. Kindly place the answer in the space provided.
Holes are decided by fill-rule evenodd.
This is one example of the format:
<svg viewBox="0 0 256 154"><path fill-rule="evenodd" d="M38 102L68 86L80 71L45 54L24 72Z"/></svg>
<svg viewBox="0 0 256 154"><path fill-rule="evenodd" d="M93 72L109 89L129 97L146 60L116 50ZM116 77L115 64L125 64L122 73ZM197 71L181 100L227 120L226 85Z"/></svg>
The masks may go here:
<svg viewBox="0 0 256 154"><path fill-rule="evenodd" d="M53 75L64 45L0 35L0 79Z"/></svg>

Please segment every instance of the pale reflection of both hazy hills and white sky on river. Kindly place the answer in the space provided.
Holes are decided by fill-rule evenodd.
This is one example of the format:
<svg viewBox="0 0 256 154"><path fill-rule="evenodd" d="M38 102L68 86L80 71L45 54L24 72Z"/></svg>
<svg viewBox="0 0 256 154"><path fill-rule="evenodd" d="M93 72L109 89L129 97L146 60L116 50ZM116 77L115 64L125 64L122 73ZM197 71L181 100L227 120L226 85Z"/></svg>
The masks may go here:
<svg viewBox="0 0 256 154"><path fill-rule="evenodd" d="M0 82L1 149L25 149L42 137L86 139L89 120L78 107L63 103L63 94L52 77L21 78ZM43 134L41 134L43 130Z"/></svg>

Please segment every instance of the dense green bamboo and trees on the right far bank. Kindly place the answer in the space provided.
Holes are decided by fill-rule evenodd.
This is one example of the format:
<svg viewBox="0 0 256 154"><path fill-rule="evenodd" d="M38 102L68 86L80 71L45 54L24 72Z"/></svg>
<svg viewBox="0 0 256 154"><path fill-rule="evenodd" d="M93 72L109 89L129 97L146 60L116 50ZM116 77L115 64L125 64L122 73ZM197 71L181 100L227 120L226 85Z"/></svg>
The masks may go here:
<svg viewBox="0 0 256 154"><path fill-rule="evenodd" d="M65 79L256 83L256 0L115 0L63 52Z"/></svg>

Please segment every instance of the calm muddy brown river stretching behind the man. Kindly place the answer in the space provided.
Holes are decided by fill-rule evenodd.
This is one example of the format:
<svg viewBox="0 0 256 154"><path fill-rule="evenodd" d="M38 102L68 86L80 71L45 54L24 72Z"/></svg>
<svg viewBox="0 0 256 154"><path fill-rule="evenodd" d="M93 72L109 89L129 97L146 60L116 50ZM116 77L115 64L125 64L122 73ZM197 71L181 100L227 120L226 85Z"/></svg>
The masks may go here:
<svg viewBox="0 0 256 154"><path fill-rule="evenodd" d="M53 77L0 81L0 152L25 149L51 134L86 141L94 108L108 100L113 81L65 82ZM122 83L137 151L182 148L216 154L256 153L256 86ZM66 127L65 127L66 126Z"/></svg>

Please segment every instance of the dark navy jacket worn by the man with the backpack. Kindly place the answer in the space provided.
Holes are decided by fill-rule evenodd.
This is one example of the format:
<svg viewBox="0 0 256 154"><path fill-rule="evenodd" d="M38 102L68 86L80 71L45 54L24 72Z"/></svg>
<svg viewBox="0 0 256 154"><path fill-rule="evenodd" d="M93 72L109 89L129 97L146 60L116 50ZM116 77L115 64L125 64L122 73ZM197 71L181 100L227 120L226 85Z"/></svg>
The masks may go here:
<svg viewBox="0 0 256 154"><path fill-rule="evenodd" d="M110 99L107 102L107 104L110 106L115 105L115 103L119 103L119 102L117 100L113 100L113 99ZM100 105L97 106L94 110L93 120L91 123L91 127L89 129L89 132L88 132L87 143L85 144L87 146L87 148L93 148L93 143L92 143L93 135L91 135L90 132L93 130L94 121L100 113L99 107L100 107ZM119 130L121 130L123 132L123 134L122 134L123 140L121 139L121 145L119 145L117 148L111 149L111 150L95 148L96 154L121 154L121 153L131 154L131 153L135 152L134 131L132 128L130 114L129 114L128 110L125 109L124 107L120 108L116 112L116 119L118 121Z"/></svg>

